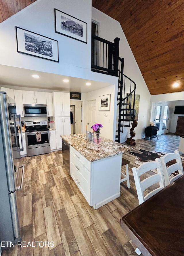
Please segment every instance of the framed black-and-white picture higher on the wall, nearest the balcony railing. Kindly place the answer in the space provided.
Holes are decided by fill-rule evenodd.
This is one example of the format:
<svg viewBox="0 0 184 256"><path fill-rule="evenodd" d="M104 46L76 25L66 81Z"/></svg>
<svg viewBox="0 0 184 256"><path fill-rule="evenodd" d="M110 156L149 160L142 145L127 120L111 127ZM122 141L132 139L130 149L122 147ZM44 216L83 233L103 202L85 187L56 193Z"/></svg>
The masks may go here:
<svg viewBox="0 0 184 256"><path fill-rule="evenodd" d="M87 23L65 12L55 11L55 32L87 44Z"/></svg>

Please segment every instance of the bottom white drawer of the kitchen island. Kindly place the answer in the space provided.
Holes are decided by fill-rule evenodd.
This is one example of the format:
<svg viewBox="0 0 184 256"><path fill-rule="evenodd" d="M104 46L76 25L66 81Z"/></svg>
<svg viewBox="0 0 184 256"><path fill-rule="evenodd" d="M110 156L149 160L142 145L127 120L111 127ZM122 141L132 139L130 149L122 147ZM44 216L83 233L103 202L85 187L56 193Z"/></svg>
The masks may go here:
<svg viewBox="0 0 184 256"><path fill-rule="evenodd" d="M78 172L74 164L70 164L71 177L85 197L86 201L91 205L91 189L85 182L84 177Z"/></svg>

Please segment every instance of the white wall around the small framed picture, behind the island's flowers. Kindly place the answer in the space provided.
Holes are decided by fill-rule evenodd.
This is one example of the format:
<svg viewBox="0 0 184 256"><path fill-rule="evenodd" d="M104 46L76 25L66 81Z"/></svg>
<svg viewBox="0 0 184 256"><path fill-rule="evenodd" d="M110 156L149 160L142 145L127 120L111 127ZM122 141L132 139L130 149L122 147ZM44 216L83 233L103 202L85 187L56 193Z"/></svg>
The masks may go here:
<svg viewBox="0 0 184 256"><path fill-rule="evenodd" d="M110 101L110 111L99 111L98 103L99 103L99 96L111 94L111 101ZM101 128L101 136L108 138L110 140L115 140L115 132L114 129L116 127L114 124L116 124L116 104L114 105L114 96L117 95L116 86L111 85L106 88L102 88L93 92L89 92L86 94L86 110L88 109L88 101L96 100L96 123L100 123L103 125L103 128ZM105 113L107 113L107 116L105 116ZM110 122L109 122L110 120ZM86 111L85 114L85 122L87 124L88 121L88 113Z"/></svg>

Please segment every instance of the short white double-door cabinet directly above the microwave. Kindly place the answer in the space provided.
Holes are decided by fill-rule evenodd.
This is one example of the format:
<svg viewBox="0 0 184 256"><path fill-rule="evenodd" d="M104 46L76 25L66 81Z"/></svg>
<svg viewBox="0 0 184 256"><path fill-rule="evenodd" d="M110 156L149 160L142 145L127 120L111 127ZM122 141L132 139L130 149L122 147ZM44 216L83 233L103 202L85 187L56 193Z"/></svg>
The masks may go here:
<svg viewBox="0 0 184 256"><path fill-rule="evenodd" d="M22 91L24 104L47 104L46 92Z"/></svg>

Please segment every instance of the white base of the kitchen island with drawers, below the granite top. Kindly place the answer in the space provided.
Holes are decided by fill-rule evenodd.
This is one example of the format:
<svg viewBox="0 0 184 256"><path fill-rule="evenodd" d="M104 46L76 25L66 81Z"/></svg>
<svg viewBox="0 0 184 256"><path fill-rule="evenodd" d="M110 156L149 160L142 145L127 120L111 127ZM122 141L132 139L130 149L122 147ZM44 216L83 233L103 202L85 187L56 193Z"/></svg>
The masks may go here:
<svg viewBox="0 0 184 256"><path fill-rule="evenodd" d="M90 162L70 146L70 175L94 209L120 196L122 154Z"/></svg>

